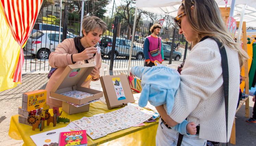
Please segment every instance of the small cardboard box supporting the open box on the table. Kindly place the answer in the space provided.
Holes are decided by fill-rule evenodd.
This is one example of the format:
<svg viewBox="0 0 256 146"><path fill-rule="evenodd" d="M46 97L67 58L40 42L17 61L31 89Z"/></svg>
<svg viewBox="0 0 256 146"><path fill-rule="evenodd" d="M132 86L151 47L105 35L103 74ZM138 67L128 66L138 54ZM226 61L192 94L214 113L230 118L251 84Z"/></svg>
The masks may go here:
<svg viewBox="0 0 256 146"><path fill-rule="evenodd" d="M81 107L75 107L67 102L62 102L62 110L65 111L67 114L77 114L80 112L89 111L90 104L81 106Z"/></svg>

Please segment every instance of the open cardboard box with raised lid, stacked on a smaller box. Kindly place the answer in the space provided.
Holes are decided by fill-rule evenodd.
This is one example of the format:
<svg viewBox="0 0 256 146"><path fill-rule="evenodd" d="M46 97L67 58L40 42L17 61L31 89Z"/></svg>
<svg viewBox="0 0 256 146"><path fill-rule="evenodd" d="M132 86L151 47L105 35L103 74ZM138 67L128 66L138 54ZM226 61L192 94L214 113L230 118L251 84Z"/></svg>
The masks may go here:
<svg viewBox="0 0 256 146"><path fill-rule="evenodd" d="M81 85L87 79L88 75L93 69L94 69L93 63L68 65L65 68L65 70L62 72L62 75L60 76L59 80L54 84L52 90L50 91L50 96L52 98L56 98L61 101L66 101L66 102L70 102L77 105L86 104L95 99L99 99L100 97L103 96L102 91L81 87ZM77 99L77 98L73 98L73 97L69 97L61 94L69 91L75 91L75 90L87 92L93 95L83 99ZM78 110L77 107L74 107L74 108ZM88 109L89 109L89 106L88 106Z"/></svg>

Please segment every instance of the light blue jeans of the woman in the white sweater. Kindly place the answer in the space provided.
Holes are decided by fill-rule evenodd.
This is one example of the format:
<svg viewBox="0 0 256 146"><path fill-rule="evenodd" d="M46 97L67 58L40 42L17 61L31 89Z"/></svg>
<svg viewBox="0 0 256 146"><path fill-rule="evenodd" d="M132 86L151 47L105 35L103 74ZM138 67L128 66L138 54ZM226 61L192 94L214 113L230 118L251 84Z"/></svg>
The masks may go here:
<svg viewBox="0 0 256 146"><path fill-rule="evenodd" d="M156 146L176 146L179 133L173 129L168 129L159 119L156 134ZM182 146L206 146L206 140L200 139L199 135L183 136Z"/></svg>

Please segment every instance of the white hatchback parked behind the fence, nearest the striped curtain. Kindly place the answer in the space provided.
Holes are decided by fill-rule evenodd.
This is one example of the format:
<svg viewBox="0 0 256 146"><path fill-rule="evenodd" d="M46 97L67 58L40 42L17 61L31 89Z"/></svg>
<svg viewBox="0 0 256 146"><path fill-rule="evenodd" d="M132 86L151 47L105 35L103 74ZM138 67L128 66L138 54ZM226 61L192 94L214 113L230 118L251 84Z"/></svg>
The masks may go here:
<svg viewBox="0 0 256 146"><path fill-rule="evenodd" d="M62 32L60 38L62 38ZM73 38L73 36L67 34L67 38ZM29 36L24 49L27 52L36 55L38 59L48 59L50 52L53 52L58 44L59 31L38 30Z"/></svg>

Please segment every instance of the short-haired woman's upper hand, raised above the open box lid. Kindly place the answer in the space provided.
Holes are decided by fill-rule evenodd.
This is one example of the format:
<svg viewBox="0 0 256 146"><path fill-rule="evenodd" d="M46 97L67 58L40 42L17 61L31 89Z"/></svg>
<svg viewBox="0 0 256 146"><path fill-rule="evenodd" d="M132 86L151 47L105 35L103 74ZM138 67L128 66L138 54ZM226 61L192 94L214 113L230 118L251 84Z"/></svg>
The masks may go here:
<svg viewBox="0 0 256 146"><path fill-rule="evenodd" d="M83 52L73 54L73 62L88 60L93 57L93 54L97 52L97 48L89 47L86 48Z"/></svg>

